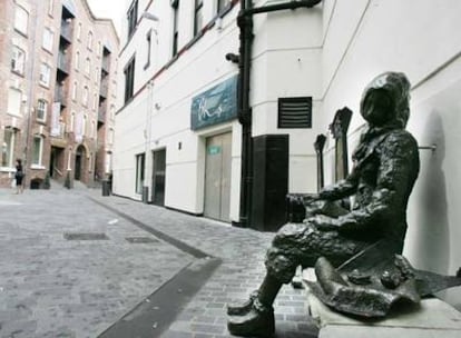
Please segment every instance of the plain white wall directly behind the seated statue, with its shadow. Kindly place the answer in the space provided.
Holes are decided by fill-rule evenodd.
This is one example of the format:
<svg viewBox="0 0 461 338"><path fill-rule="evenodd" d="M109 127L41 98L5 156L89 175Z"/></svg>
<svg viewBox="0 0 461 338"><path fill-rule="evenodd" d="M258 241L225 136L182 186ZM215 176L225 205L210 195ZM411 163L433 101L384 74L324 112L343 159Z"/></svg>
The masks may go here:
<svg viewBox="0 0 461 338"><path fill-rule="evenodd" d="M364 87L386 70L408 74L413 84L408 129L420 146L438 148L420 150L404 254L418 268L454 275L461 266L461 2L325 0L324 8L324 130L339 108L351 108L351 155L364 122L359 115ZM330 182L332 152L330 147L325 156ZM460 307L461 290L445 299Z"/></svg>

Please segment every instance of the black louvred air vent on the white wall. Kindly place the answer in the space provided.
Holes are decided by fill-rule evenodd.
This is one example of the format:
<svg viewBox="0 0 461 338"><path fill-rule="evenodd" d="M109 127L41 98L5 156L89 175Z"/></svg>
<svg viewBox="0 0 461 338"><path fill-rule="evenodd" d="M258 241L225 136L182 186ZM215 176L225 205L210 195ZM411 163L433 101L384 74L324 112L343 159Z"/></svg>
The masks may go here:
<svg viewBox="0 0 461 338"><path fill-rule="evenodd" d="M278 128L312 128L312 97L279 98Z"/></svg>

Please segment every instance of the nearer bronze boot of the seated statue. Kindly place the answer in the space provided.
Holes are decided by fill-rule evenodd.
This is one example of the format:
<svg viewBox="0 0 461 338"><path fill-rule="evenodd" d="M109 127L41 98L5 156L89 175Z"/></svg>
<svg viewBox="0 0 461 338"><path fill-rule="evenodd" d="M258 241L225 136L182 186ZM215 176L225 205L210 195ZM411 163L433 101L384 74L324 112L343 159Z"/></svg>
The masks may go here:
<svg viewBox="0 0 461 338"><path fill-rule="evenodd" d="M272 337L275 332L274 309L254 299L244 316L230 317L227 321L230 335L241 337Z"/></svg>

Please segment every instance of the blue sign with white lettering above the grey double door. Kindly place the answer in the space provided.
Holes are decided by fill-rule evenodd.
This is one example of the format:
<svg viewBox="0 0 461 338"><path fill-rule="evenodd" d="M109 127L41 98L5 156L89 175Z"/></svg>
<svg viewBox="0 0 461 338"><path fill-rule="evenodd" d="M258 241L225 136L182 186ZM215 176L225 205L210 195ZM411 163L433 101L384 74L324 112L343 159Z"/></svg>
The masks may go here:
<svg viewBox="0 0 461 338"><path fill-rule="evenodd" d="M237 76L193 98L190 129L197 130L237 117Z"/></svg>

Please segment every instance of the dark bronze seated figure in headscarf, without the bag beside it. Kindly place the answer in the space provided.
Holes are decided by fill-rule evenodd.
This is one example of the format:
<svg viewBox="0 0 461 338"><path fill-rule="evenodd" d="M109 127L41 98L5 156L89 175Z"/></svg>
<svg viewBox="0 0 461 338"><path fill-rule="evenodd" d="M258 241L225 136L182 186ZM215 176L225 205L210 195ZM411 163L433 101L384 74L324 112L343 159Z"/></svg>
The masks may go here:
<svg viewBox="0 0 461 338"><path fill-rule="evenodd" d="M237 336L269 337L275 330L273 302L296 267L314 267L324 257L339 267L380 242L382 257L401 254L406 232L406 203L420 167L418 143L405 130L410 82L385 72L364 90L360 112L367 122L345 180L306 200L306 216L275 236L266 256L259 289L242 305L228 306L228 330ZM334 201L354 196L352 210Z"/></svg>

